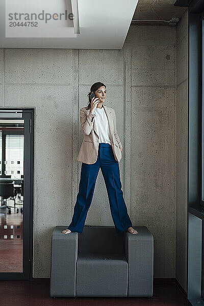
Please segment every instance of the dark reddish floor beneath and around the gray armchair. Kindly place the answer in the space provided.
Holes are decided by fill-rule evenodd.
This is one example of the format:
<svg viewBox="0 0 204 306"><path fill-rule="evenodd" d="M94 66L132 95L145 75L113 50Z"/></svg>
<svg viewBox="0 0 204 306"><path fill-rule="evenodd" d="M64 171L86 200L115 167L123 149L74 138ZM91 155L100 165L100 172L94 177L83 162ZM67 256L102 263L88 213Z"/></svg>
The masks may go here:
<svg viewBox="0 0 204 306"><path fill-rule="evenodd" d="M32 281L0 281L1 306L180 306L187 305L187 298L175 283L154 282L151 298L139 297L56 297L49 296L49 278Z"/></svg>

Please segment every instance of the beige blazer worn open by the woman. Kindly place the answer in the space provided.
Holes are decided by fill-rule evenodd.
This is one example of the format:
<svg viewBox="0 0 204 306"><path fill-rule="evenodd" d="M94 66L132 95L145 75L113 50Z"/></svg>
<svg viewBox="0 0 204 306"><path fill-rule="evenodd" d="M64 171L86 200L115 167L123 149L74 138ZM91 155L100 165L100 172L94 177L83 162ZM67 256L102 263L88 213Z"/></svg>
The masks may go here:
<svg viewBox="0 0 204 306"><path fill-rule="evenodd" d="M110 140L113 149L113 154L116 161L121 160L122 144L116 130L115 111L111 107L103 104L109 122ZM94 164L97 160L99 137L95 132L95 114L90 113L88 107L80 109L80 121L82 131L85 134L77 160L86 164Z"/></svg>

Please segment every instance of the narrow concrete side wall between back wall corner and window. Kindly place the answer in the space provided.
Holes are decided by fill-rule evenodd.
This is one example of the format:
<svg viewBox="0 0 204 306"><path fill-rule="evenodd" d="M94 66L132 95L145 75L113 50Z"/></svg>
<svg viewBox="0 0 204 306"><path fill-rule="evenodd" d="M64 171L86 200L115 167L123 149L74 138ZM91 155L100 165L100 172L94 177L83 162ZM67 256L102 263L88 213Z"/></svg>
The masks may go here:
<svg viewBox="0 0 204 306"><path fill-rule="evenodd" d="M188 9L177 25L175 276L187 291Z"/></svg>

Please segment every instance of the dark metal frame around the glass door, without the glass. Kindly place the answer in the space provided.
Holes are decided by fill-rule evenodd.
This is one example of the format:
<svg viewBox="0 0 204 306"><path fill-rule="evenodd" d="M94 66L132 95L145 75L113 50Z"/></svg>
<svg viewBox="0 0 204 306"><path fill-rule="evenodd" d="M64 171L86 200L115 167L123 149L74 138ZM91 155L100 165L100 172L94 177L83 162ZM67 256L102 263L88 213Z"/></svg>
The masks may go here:
<svg viewBox="0 0 204 306"><path fill-rule="evenodd" d="M21 117L4 115L6 110L19 111ZM19 114L18 114L19 115ZM5 116L5 117L4 117ZM0 119L24 120L23 158L23 272L1 272L0 280L33 279L33 213L34 213L34 118L35 108L1 107ZM1 239L0 239L1 242ZM5 259L6 260L6 259Z"/></svg>

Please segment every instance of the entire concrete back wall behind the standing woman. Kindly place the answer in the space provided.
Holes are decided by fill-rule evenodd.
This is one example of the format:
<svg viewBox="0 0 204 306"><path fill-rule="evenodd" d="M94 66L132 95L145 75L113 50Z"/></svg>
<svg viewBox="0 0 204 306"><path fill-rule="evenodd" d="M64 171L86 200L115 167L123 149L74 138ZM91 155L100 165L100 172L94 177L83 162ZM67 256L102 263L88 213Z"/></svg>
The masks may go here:
<svg viewBox="0 0 204 306"><path fill-rule="evenodd" d="M53 229L71 221L81 169L79 109L101 81L116 112L130 217L154 235L154 277L175 277L176 27L132 25L122 50L0 51L1 106L36 109L33 276L49 277ZM101 171L86 224L114 225Z"/></svg>

